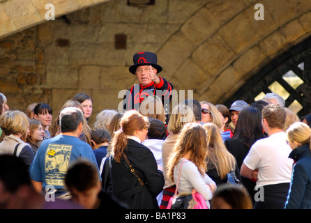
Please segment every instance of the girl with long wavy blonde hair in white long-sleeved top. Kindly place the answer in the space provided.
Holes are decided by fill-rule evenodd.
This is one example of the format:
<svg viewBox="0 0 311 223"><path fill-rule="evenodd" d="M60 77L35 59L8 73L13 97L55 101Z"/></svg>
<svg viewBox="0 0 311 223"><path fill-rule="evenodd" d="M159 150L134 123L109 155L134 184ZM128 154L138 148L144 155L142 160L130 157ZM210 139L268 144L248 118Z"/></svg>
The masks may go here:
<svg viewBox="0 0 311 223"><path fill-rule="evenodd" d="M209 200L216 190L215 182L206 171L206 131L199 123L187 123L183 126L172 155L169 157L168 177L176 183L179 178L178 192L191 193L195 189ZM179 176L179 171L181 174Z"/></svg>

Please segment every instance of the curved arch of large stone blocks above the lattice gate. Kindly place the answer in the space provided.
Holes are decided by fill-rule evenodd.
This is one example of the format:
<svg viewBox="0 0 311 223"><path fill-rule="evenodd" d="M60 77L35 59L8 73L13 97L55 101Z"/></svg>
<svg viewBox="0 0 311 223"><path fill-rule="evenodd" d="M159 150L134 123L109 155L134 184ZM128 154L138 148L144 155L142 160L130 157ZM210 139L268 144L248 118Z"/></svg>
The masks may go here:
<svg viewBox="0 0 311 223"><path fill-rule="evenodd" d="M160 63L177 89L225 102L268 61L310 36L311 1L260 1L264 21L254 19L259 1L248 2L207 1L162 45Z"/></svg>

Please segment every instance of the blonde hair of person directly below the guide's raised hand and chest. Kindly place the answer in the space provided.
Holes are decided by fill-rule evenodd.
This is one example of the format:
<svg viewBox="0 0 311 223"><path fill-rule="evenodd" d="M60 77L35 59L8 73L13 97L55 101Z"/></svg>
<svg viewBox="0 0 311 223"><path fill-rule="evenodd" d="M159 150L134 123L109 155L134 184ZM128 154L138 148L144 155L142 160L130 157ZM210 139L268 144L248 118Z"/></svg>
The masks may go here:
<svg viewBox="0 0 311 223"><path fill-rule="evenodd" d="M166 116L162 100L156 95L144 98L139 106L139 112L144 116L155 118L165 123Z"/></svg>

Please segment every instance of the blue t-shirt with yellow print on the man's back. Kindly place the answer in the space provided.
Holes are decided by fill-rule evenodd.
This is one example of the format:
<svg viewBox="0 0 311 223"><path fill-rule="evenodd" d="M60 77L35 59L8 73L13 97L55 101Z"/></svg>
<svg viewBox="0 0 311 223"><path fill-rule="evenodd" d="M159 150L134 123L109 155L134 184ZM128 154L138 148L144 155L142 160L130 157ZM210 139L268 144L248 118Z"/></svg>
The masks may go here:
<svg viewBox="0 0 311 223"><path fill-rule="evenodd" d="M29 168L31 180L42 182L43 188L53 185L55 189L64 189L68 166L77 158L86 158L98 167L91 146L77 137L60 134L46 139Z"/></svg>

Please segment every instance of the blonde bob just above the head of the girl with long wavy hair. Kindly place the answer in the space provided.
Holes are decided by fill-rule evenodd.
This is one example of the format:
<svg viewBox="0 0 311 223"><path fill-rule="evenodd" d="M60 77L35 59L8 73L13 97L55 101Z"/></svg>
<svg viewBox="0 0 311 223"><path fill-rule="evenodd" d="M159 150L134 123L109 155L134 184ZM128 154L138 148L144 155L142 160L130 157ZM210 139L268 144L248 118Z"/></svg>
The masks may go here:
<svg viewBox="0 0 311 223"><path fill-rule="evenodd" d="M194 123L195 114L187 105L176 105L172 110L172 114L167 124L167 131L172 134L179 134L183 125L186 123Z"/></svg>

